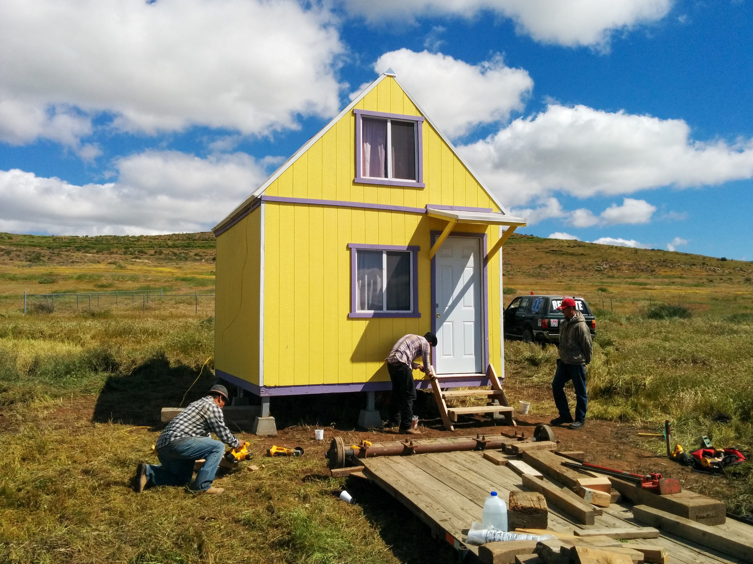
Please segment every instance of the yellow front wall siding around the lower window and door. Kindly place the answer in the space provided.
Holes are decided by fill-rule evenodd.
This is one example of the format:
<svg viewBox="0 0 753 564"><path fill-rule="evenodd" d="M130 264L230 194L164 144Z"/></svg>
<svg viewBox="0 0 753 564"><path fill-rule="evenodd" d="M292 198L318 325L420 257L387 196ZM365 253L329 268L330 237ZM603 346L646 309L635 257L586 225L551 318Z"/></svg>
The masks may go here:
<svg viewBox="0 0 753 564"><path fill-rule="evenodd" d="M265 204L265 218L264 386L388 381L384 359L395 341L431 330L429 237L444 222L422 214L273 202ZM498 229L486 232L491 247ZM421 247L420 318L348 317L349 243ZM498 259L490 262L488 276L490 359L498 367Z"/></svg>

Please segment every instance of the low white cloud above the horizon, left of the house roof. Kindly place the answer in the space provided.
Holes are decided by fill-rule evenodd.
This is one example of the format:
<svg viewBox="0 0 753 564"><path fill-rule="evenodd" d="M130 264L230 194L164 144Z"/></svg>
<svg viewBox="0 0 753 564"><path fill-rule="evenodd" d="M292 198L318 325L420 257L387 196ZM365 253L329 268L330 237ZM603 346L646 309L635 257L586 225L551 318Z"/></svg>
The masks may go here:
<svg viewBox="0 0 753 564"><path fill-rule="evenodd" d="M0 171L0 231L156 234L211 228L267 176L245 153L200 159L148 151L116 162L117 180L76 186Z"/></svg>

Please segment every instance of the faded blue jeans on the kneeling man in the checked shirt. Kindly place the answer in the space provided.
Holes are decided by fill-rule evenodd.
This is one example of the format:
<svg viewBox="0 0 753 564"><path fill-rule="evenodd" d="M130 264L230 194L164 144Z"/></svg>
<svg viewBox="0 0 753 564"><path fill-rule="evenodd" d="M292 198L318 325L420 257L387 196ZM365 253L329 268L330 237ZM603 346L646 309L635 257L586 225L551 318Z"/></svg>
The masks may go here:
<svg viewBox="0 0 753 564"><path fill-rule="evenodd" d="M190 489L209 490L224 453L225 445L209 437L178 438L157 449L160 464L147 465L147 486L185 486L194 475L194 462L206 459Z"/></svg>

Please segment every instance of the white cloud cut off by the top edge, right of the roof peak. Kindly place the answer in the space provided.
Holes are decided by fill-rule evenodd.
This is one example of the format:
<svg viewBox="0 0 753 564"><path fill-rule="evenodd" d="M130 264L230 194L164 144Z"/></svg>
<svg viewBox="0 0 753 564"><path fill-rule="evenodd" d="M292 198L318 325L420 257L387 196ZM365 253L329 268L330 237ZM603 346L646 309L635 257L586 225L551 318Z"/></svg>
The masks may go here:
<svg viewBox="0 0 753 564"><path fill-rule="evenodd" d="M536 41L604 46L614 30L661 20L672 0L340 0L372 23L412 23L417 16L474 17L492 11L509 17L517 32Z"/></svg>

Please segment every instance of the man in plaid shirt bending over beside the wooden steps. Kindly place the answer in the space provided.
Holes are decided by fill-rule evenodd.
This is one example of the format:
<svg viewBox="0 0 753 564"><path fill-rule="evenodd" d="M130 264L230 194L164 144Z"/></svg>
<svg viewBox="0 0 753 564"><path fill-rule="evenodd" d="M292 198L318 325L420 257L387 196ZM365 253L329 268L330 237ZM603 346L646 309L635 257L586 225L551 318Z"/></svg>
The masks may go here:
<svg viewBox="0 0 753 564"><path fill-rule="evenodd" d="M428 371L431 374L431 347L437 346L437 335L426 333L405 335L387 356L387 371L392 381L392 422L404 435L420 435L418 429L411 429L413 402L416 401L416 382L413 371ZM423 365L413 360L421 356Z"/></svg>

